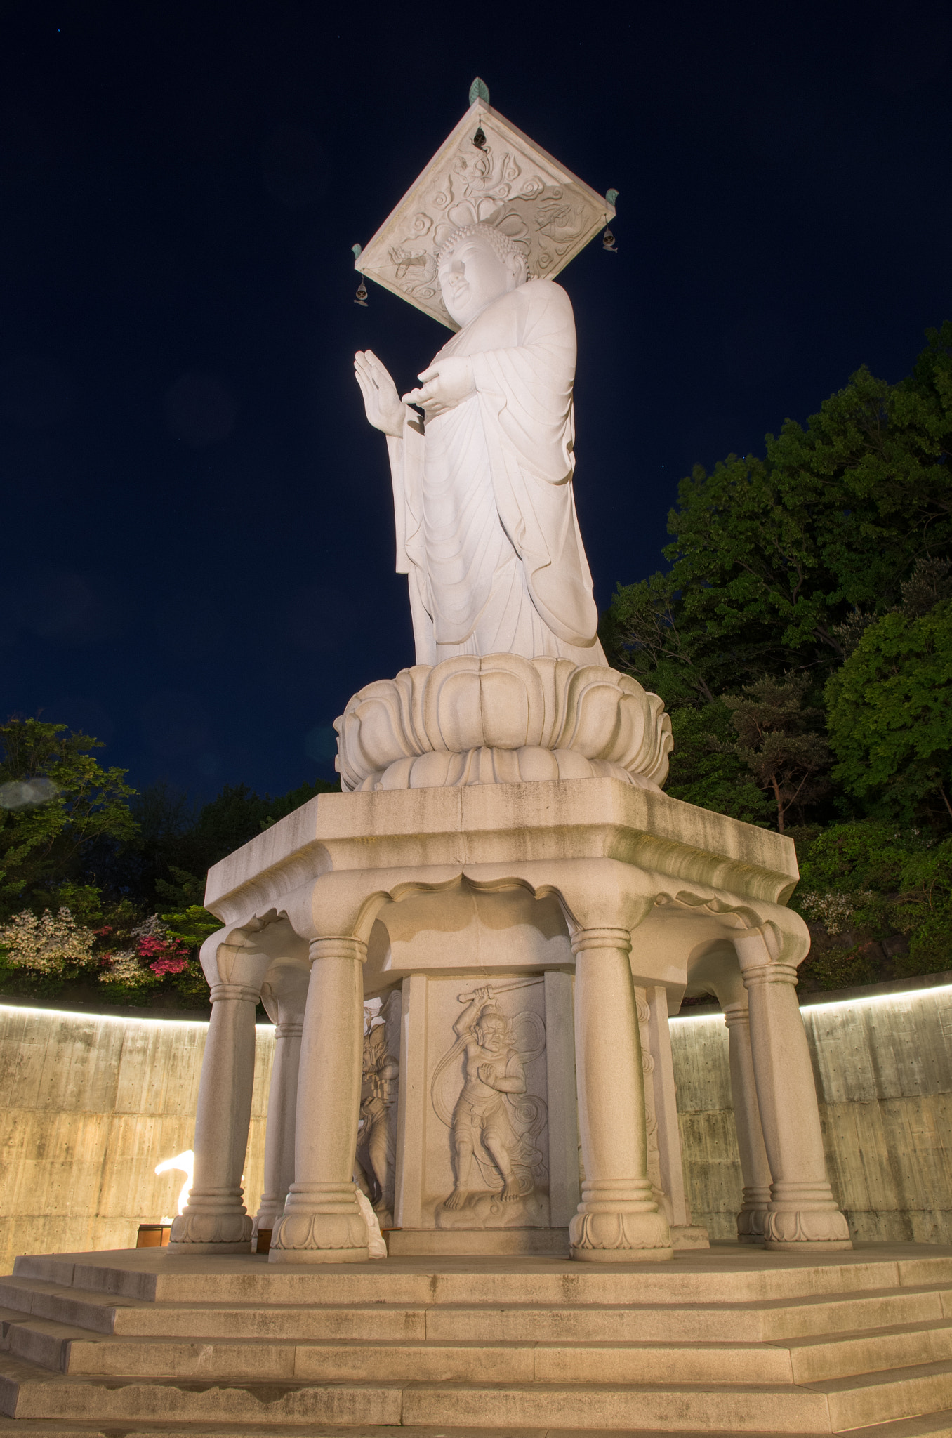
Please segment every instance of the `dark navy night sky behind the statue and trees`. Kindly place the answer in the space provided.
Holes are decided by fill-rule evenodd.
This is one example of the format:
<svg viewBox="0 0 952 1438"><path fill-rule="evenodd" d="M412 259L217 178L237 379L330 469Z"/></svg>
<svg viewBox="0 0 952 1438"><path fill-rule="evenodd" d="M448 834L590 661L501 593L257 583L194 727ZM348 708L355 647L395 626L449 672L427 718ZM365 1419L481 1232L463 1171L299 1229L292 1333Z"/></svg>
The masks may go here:
<svg viewBox="0 0 952 1438"><path fill-rule="evenodd" d="M331 16L331 19L328 19ZM600 607L660 568L677 480L762 449L952 318L948 6L0 7L0 715L141 788L331 778L413 663L383 436L449 332L365 244L467 106L595 190L577 502Z"/></svg>

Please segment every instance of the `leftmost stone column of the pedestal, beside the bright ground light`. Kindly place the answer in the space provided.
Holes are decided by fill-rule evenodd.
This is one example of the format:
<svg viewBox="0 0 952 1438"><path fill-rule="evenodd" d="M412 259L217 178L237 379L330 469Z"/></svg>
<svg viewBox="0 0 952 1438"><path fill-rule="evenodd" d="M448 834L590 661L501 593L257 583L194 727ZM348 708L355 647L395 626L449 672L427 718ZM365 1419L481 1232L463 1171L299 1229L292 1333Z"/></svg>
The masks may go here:
<svg viewBox="0 0 952 1438"><path fill-rule="evenodd" d="M250 1252L252 1219L242 1202L255 1086L255 1008L247 984L211 986L211 1021L196 1114L196 1173L173 1224L168 1252Z"/></svg>

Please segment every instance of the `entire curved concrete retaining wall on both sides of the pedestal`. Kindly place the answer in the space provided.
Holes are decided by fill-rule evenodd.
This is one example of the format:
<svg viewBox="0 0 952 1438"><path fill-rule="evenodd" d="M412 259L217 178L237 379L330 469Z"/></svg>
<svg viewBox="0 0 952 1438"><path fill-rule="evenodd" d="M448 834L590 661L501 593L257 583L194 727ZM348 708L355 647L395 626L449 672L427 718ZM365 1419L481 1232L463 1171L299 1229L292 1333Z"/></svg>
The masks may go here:
<svg viewBox="0 0 952 1438"><path fill-rule="evenodd" d="M833 1188L860 1240L952 1242L952 985L802 1008ZM125 1248L175 1212L207 1024L0 1005L0 1273L22 1252ZM257 1028L249 1212L273 1030ZM733 1237L741 1166L723 1017L672 1020L695 1222Z"/></svg>

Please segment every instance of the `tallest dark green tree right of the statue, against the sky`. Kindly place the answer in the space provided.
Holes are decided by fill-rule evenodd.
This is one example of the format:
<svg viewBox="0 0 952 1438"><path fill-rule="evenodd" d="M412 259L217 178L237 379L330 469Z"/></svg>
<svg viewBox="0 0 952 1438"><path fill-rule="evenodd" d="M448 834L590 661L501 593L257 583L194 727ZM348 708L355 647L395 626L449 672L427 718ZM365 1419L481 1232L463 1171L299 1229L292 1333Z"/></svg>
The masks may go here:
<svg viewBox="0 0 952 1438"><path fill-rule="evenodd" d="M846 657L851 615L899 603L916 559L952 545L952 324L913 374L866 368L804 426L682 482L667 575L620 585L603 620L613 663L669 702ZM667 690L667 693L664 693Z"/></svg>

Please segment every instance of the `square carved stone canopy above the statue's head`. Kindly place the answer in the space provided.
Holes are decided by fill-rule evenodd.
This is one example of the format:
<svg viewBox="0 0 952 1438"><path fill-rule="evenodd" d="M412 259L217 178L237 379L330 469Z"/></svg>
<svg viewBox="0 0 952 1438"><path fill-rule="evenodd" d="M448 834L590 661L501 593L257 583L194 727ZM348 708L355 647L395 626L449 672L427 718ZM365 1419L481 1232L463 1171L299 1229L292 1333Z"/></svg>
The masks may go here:
<svg viewBox="0 0 952 1438"><path fill-rule="evenodd" d="M521 250L531 279L555 279L614 219L608 197L546 154L489 105L473 81L470 106L365 249L357 269L459 329L440 293L440 244L467 224L492 224Z"/></svg>

